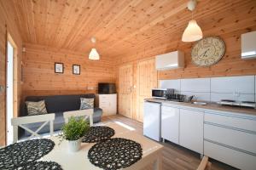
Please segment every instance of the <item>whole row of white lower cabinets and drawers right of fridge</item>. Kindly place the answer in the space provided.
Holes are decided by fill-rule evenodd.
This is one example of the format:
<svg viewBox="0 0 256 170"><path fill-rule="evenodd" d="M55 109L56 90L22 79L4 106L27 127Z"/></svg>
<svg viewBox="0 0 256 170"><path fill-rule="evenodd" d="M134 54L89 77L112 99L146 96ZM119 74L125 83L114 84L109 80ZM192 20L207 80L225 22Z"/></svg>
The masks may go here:
<svg viewBox="0 0 256 170"><path fill-rule="evenodd" d="M232 167L256 169L256 116L162 105L161 137Z"/></svg>

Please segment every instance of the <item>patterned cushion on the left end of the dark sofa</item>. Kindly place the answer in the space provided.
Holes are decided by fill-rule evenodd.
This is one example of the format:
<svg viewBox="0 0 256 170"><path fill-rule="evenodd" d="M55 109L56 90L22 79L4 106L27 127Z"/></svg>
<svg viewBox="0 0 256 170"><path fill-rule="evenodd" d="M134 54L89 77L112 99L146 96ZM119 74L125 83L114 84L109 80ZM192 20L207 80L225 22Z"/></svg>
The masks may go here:
<svg viewBox="0 0 256 170"><path fill-rule="evenodd" d="M44 100L38 102L26 101L26 108L29 116L47 114Z"/></svg>

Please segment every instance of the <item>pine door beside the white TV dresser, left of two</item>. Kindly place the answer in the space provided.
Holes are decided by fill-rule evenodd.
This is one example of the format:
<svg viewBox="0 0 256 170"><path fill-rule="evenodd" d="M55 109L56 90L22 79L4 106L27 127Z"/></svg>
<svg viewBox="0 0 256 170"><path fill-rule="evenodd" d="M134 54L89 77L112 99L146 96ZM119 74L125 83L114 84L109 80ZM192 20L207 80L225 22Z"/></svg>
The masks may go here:
<svg viewBox="0 0 256 170"><path fill-rule="evenodd" d="M119 114L132 118L133 65L119 67Z"/></svg>

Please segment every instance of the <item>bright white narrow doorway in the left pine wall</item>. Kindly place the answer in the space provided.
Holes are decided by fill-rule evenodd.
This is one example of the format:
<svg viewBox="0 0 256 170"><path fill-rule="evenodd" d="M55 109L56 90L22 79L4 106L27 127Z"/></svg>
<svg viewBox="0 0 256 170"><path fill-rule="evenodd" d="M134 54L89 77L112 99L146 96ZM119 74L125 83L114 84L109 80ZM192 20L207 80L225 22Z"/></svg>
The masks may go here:
<svg viewBox="0 0 256 170"><path fill-rule="evenodd" d="M7 91L6 91L6 122L7 144L13 143L13 128L11 119L14 116L14 47L10 42L7 45Z"/></svg>

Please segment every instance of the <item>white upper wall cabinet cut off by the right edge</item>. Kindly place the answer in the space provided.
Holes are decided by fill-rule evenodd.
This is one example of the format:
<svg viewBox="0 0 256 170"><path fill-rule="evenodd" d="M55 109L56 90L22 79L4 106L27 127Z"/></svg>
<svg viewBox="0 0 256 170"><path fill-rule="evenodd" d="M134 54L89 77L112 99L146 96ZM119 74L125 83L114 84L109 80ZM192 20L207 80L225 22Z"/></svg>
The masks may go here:
<svg viewBox="0 0 256 170"><path fill-rule="evenodd" d="M241 59L256 59L256 31L241 34Z"/></svg>

